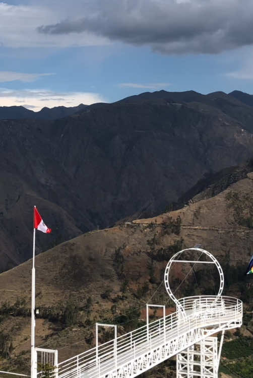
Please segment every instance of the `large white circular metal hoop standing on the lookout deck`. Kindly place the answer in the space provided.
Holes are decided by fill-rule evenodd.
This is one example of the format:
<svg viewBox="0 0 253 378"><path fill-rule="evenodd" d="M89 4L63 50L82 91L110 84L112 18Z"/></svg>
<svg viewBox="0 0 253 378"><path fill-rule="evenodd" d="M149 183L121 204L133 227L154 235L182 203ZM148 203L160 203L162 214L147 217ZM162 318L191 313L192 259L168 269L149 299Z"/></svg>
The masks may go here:
<svg viewBox="0 0 253 378"><path fill-rule="evenodd" d="M197 250L199 252L201 252L201 255L202 254L205 254L206 256L208 256L211 261L201 261L201 260L198 260L198 261L186 261L186 260L183 260L183 261L180 261L180 260L175 260L175 258L177 256L179 256L180 254L182 254L183 252L187 251L187 250ZM210 252L208 252L207 250L205 249L202 249L202 248L186 248L186 249L182 249L180 250L179 252L177 252L175 255L172 256L172 258L169 260L167 266L166 266L166 269L165 269L165 273L164 273L164 284L165 284L165 288L166 288L166 291L167 293L169 294L169 297L173 300L173 302L176 304L176 306L180 309L180 310L183 310L182 308L182 305L180 304L180 302L176 299L175 295L172 293L171 291L171 288L169 286L169 270L170 270L170 267L172 265L173 262L177 262L177 263L180 263L180 262L183 262L183 263L204 263L204 264L215 264L217 269L218 269L218 272L219 272L219 275L220 275L220 288L219 288L219 292L217 294L217 297L221 296L222 294L222 291L223 291L223 287L224 287L224 274L223 274L223 271L222 271L222 268L218 262L218 260L212 255L210 254ZM184 310L183 310L184 312Z"/></svg>

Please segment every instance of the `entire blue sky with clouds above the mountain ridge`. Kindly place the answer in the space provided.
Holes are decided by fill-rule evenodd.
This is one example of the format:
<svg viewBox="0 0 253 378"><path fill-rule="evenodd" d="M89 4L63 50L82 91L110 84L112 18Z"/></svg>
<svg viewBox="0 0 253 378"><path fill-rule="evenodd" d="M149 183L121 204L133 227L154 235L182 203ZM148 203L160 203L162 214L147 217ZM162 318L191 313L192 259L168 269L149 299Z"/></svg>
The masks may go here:
<svg viewBox="0 0 253 378"><path fill-rule="evenodd" d="M252 94L252 0L0 0L0 106Z"/></svg>

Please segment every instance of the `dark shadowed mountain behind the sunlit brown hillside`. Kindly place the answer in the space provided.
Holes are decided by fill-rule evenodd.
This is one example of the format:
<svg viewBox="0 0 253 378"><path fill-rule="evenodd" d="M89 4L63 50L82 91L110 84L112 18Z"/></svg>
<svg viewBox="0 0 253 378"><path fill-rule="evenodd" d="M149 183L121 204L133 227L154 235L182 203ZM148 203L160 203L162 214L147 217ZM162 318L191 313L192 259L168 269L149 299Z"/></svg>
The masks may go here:
<svg viewBox="0 0 253 378"><path fill-rule="evenodd" d="M53 232L37 253L177 202L252 157L253 108L222 92L144 93L56 120L0 121L0 271L31 256L36 205Z"/></svg>

